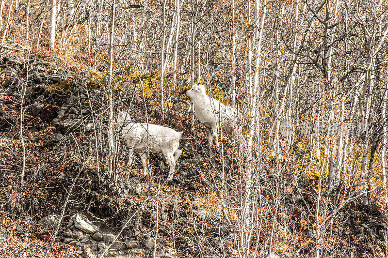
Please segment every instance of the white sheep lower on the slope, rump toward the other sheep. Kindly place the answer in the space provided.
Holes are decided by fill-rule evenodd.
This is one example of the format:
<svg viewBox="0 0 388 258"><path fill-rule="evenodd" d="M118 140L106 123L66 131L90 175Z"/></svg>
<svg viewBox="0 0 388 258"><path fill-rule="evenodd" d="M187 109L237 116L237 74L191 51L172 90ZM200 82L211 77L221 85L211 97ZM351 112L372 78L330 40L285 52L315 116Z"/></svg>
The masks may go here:
<svg viewBox="0 0 388 258"><path fill-rule="evenodd" d="M115 124L121 129L122 137L130 148L129 166L133 162L133 149L135 149L136 152L140 152L144 175L147 175L147 152L163 153L169 167L167 180L173 179L175 162L182 154L178 147L183 132L177 132L174 129L156 124L132 122L129 113L126 111L118 113Z"/></svg>

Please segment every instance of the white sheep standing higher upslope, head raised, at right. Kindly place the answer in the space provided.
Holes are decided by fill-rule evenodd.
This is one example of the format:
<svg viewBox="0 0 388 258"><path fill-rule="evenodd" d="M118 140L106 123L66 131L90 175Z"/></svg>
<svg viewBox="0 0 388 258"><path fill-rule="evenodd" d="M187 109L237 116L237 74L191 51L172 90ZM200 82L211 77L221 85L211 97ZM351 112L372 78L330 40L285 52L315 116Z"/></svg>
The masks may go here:
<svg viewBox="0 0 388 258"><path fill-rule="evenodd" d="M206 95L205 85L194 84L193 88L186 91L186 95L191 98L194 107L195 117L200 121L208 132L209 146L212 146L212 136L214 136L215 146L218 143L218 132L224 130L231 136L237 136L237 109L225 106L216 99Z"/></svg>

